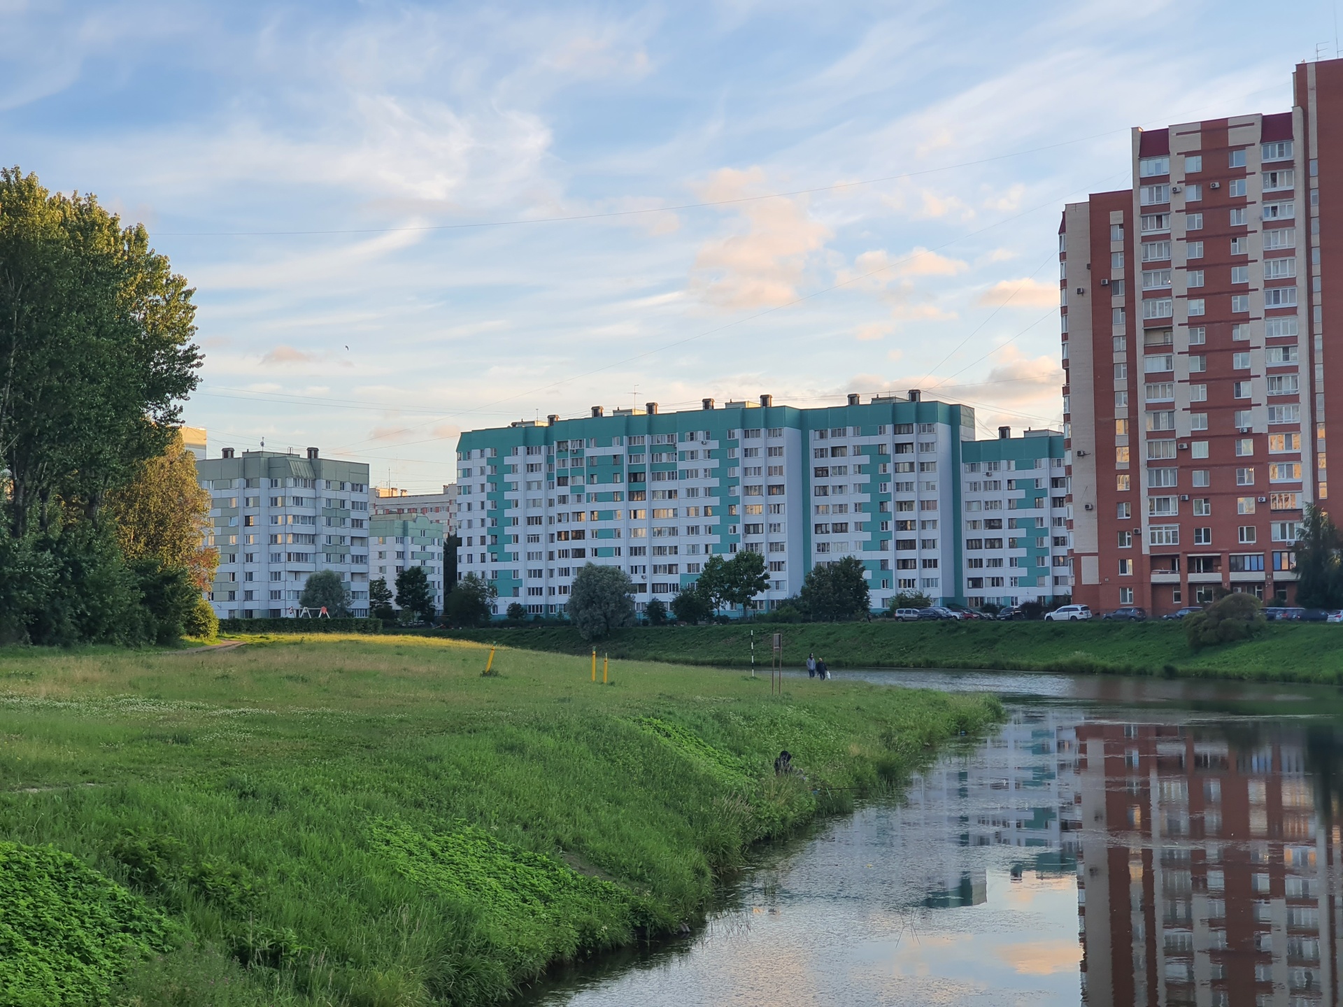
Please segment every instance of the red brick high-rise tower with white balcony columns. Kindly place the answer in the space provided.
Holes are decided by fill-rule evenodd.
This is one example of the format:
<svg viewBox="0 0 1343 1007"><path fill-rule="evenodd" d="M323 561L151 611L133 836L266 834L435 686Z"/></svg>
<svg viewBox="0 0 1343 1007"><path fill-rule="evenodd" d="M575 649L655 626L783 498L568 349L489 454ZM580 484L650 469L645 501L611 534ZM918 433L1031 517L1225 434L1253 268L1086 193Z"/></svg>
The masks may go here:
<svg viewBox="0 0 1343 1007"><path fill-rule="evenodd" d="M1293 600L1343 423L1343 60L1291 111L1135 129L1132 162L1060 228L1074 600Z"/></svg>

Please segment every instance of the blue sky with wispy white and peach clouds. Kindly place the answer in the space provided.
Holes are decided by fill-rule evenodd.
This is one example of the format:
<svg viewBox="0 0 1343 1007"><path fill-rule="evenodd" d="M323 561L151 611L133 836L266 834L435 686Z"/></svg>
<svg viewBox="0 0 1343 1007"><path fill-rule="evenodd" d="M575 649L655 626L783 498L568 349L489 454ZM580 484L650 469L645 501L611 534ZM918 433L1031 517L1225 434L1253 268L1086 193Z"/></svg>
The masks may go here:
<svg viewBox="0 0 1343 1007"><path fill-rule="evenodd" d="M1132 125L1287 110L1336 46L1292 11L0 0L0 138L197 287L211 454L426 490L457 431L595 404L1058 423L1062 204Z"/></svg>

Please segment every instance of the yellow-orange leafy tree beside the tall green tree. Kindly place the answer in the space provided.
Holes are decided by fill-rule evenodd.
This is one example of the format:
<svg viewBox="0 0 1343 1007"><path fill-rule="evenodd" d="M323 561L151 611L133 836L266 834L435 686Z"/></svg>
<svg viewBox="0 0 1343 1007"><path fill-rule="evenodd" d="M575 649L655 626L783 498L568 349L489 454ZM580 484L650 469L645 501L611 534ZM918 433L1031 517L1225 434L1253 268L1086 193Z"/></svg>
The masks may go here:
<svg viewBox="0 0 1343 1007"><path fill-rule="evenodd" d="M110 491L107 516L128 561L156 559L183 567L197 591L215 577L219 553L201 545L210 529L210 494L196 481L196 458L175 432L168 448L141 462L130 482Z"/></svg>

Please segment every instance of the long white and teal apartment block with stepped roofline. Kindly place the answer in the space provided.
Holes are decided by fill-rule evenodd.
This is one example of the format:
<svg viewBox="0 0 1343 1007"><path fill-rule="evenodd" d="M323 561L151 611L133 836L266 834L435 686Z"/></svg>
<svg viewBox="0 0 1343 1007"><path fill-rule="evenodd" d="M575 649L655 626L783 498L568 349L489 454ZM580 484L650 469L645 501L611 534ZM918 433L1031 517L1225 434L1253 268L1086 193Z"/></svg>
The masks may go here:
<svg viewBox="0 0 1343 1007"><path fill-rule="evenodd" d="M755 550L770 573L760 599L770 608L798 593L814 565L845 556L862 561L874 607L901 591L943 602L1011 596L1006 580L1002 591L966 591L962 499L974 481L962 471L974 432L974 410L916 391L815 410L770 396L725 407L705 399L681 412L594 407L582 419L470 431L458 444L458 576L494 583L500 612L516 599L530 614L560 615L591 561L629 572L642 608L670 602L709 556ZM1048 485L1052 455L1042 457ZM1021 537L1035 548L1038 536ZM1049 577L1025 581L1022 600L1030 589L1052 593Z"/></svg>

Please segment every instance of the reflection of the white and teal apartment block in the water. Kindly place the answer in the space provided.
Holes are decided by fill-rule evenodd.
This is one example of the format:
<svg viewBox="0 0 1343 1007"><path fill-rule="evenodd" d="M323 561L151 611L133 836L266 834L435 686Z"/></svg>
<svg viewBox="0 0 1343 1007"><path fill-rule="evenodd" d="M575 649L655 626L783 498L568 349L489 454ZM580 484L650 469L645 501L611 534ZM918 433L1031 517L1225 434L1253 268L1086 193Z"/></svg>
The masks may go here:
<svg viewBox="0 0 1343 1007"><path fill-rule="evenodd" d="M974 847L1017 846L1029 851L1018 867L1072 870L1081 826L1076 724L1076 712L1017 710L974 753L944 759L912 781L900 814L907 835L960 839L921 858L925 906L984 901L983 859Z"/></svg>

